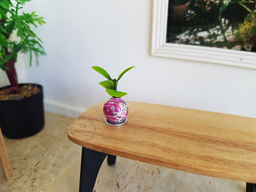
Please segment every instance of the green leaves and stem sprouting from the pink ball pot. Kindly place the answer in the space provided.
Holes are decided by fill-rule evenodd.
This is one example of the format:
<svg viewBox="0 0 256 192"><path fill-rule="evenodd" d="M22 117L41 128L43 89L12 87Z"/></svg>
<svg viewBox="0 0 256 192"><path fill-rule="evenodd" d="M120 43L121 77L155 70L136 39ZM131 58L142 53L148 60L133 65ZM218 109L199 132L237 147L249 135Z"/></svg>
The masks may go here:
<svg viewBox="0 0 256 192"><path fill-rule="evenodd" d="M98 67L98 66L93 66L92 68L100 73L102 76L104 76L106 79L105 81L99 82L99 84L106 89L106 92L112 96L112 97L122 97L124 95L127 95L125 92L117 91L117 84L120 78L130 69L133 69L135 66L132 66L130 68L125 69L120 75L118 76L117 79L112 79L109 75L108 72L106 72L103 68Z"/></svg>

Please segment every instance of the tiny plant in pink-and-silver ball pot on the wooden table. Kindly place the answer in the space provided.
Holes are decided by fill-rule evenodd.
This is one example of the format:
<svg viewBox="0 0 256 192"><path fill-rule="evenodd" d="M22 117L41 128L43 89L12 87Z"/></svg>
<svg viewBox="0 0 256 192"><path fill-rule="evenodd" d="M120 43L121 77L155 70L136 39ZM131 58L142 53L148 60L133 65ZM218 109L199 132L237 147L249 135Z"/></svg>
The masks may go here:
<svg viewBox="0 0 256 192"><path fill-rule="evenodd" d="M103 106L105 123L112 126L120 126L125 124L127 122L128 104L121 97L127 95L127 93L117 91L117 84L124 73L134 68L134 66L125 69L122 73L120 73L117 79L112 79L108 72L100 67L93 66L92 68L108 79L99 82L99 84L105 88L106 92L111 96L111 98L106 101Z"/></svg>

